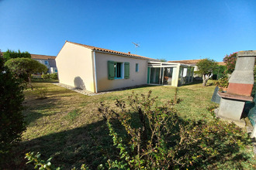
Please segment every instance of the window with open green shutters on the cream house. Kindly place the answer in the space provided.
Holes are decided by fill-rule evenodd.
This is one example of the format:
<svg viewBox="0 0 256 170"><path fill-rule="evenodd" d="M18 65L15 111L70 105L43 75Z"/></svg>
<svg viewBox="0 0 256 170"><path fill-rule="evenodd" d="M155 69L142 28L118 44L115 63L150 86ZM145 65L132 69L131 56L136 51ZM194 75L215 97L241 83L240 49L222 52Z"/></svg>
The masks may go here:
<svg viewBox="0 0 256 170"><path fill-rule="evenodd" d="M130 63L119 63L108 61L108 78L115 79L129 79L130 77Z"/></svg>

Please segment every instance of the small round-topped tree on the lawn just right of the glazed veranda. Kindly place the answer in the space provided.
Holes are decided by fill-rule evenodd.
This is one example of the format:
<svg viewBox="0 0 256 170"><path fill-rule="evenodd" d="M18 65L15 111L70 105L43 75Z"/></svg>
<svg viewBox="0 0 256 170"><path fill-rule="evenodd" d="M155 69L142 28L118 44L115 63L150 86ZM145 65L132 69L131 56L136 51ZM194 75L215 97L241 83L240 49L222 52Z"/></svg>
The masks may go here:
<svg viewBox="0 0 256 170"><path fill-rule="evenodd" d="M213 70L218 66L218 63L213 59L201 59L196 66L198 66L199 69L196 73L202 74L202 86L205 87Z"/></svg>

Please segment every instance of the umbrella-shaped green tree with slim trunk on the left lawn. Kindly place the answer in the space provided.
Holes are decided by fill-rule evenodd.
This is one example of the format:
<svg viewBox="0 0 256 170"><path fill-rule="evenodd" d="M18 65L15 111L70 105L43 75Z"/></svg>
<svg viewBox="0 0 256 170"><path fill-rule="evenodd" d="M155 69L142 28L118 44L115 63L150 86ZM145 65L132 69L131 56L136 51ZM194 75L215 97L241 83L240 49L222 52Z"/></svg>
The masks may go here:
<svg viewBox="0 0 256 170"><path fill-rule="evenodd" d="M26 76L31 89L33 89L33 86L31 84L31 74L47 72L47 66L44 66L38 61L29 58L9 59L5 62L5 66L9 67L9 70L12 70L12 72L15 73L16 76Z"/></svg>

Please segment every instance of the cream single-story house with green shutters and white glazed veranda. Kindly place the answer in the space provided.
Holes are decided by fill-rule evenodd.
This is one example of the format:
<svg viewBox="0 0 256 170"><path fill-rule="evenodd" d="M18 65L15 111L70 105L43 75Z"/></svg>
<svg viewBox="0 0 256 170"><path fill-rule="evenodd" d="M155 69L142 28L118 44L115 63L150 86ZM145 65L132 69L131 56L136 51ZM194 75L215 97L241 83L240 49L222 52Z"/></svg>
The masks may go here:
<svg viewBox="0 0 256 170"><path fill-rule="evenodd" d="M193 75L193 67L182 63L68 41L56 63L60 83L95 93L147 83L177 87L192 82Z"/></svg>

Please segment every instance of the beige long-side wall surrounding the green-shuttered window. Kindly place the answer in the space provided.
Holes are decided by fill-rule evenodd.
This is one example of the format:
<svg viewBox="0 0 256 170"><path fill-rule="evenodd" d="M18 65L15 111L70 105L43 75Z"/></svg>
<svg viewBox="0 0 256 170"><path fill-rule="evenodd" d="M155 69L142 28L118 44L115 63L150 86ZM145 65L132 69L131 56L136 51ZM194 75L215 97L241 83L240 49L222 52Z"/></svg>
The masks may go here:
<svg viewBox="0 0 256 170"><path fill-rule="evenodd" d="M115 54L96 52L95 60L98 92L123 87L133 87L147 83L147 60L145 59L135 59ZM130 78L109 80L108 61L130 63ZM139 64L138 72L136 72L136 63Z"/></svg>

